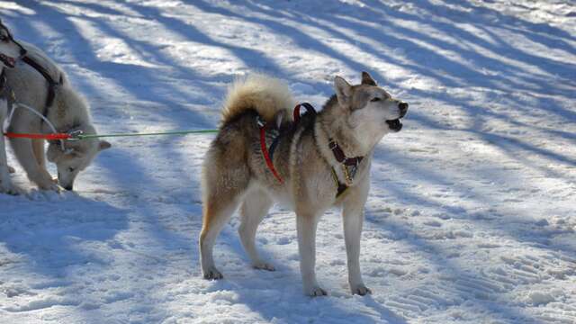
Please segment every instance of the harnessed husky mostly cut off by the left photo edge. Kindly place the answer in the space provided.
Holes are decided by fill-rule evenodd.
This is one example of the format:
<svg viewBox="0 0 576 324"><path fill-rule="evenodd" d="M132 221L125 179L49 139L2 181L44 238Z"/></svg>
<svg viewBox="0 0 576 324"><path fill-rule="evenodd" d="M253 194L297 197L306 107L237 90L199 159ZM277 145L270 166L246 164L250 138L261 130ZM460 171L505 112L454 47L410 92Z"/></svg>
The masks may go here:
<svg viewBox="0 0 576 324"><path fill-rule="evenodd" d="M10 181L9 173L12 170L7 163L2 128L8 113L9 101L13 99L11 89L6 85L5 69L14 67L16 60L23 55L23 52L24 50L14 41L8 28L0 20L0 193L17 193Z"/></svg>

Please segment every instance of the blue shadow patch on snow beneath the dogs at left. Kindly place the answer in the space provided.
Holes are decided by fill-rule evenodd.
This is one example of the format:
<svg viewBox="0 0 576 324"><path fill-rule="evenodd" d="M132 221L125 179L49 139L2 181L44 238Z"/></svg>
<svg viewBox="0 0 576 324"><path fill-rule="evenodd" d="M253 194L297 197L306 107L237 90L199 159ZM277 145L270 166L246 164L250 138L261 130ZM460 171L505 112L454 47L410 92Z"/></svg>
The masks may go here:
<svg viewBox="0 0 576 324"><path fill-rule="evenodd" d="M86 244L113 240L128 227L126 211L76 193L45 193L43 197L40 193L34 200L0 195L0 242L24 257L25 268L63 278L69 267L109 265L109 256Z"/></svg>

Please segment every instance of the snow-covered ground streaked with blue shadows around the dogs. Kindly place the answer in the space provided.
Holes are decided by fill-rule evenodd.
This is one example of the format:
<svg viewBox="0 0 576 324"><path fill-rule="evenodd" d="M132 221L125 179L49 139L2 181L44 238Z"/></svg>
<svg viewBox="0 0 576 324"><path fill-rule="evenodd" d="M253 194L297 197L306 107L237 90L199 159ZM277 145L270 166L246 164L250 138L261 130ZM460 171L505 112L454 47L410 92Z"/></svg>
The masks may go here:
<svg viewBox="0 0 576 324"><path fill-rule="evenodd" d="M302 295L295 220L275 209L250 268L227 226L201 279L199 165L212 136L112 140L41 193L11 156L0 195L0 323L576 322L576 4L543 1L0 1L100 131L213 128L258 70L320 107L366 70L410 103L376 153L361 265L347 288L338 211L318 235L330 296ZM53 169L52 169L53 171Z"/></svg>

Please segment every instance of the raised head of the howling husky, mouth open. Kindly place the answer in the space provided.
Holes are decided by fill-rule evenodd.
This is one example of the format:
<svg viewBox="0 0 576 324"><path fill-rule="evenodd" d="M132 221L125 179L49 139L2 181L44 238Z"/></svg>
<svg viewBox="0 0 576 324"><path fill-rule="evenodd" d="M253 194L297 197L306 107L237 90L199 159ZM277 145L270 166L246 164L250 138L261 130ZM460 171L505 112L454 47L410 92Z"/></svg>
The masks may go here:
<svg viewBox="0 0 576 324"><path fill-rule="evenodd" d="M360 85L350 85L336 76L334 88L340 107L347 112L348 126L362 137L379 140L402 129L401 118L408 112L408 103L392 98L367 72L362 72Z"/></svg>

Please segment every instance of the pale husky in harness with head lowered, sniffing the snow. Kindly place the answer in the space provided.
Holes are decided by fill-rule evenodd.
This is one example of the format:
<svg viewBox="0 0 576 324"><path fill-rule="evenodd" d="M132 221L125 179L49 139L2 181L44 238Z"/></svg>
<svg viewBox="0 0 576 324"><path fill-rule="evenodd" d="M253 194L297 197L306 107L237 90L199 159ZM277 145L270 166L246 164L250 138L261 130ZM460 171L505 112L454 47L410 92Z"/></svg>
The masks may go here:
<svg viewBox="0 0 576 324"><path fill-rule="evenodd" d="M17 103L24 103L46 117L58 132L80 130L95 134L85 99L68 82L66 73L35 46L21 42L26 56L7 71L8 84L14 90ZM9 130L15 133L51 133L46 121L24 109L14 112ZM44 139L10 139L14 155L28 178L40 189L59 192L62 187L72 190L76 175L90 165L94 157L111 145L107 141L49 141L45 152ZM58 167L58 184L46 169L46 157Z"/></svg>

